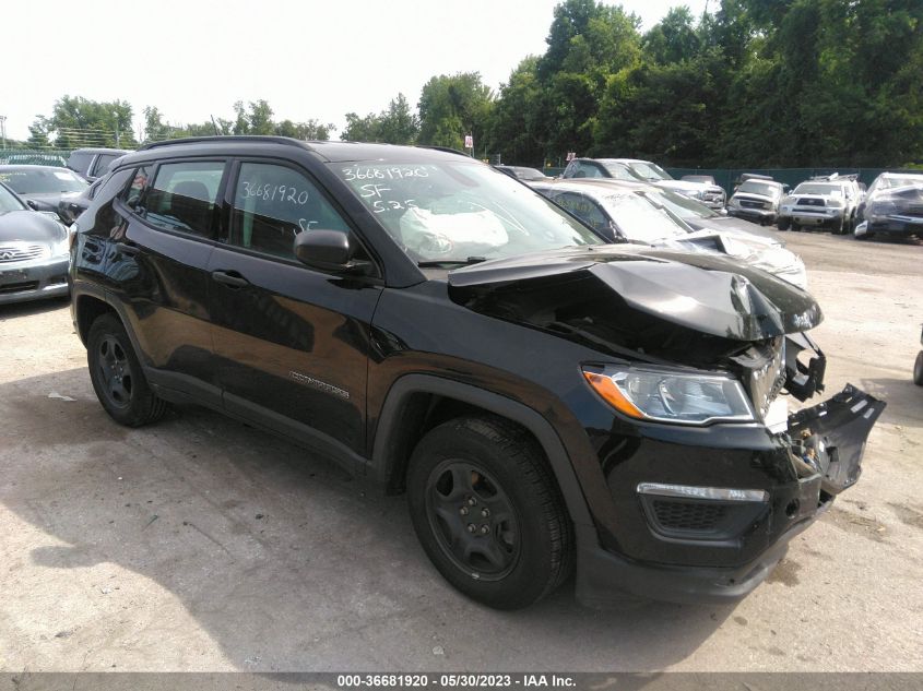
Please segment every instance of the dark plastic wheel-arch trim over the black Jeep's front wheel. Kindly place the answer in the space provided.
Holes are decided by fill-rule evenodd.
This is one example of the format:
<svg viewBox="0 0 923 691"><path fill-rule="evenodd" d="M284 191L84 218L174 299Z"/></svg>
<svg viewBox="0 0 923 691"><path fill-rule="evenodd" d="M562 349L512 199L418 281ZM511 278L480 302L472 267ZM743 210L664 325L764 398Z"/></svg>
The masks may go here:
<svg viewBox="0 0 923 691"><path fill-rule="evenodd" d="M384 484L394 470L393 462L389 458L392 454L389 452L393 449L406 402L415 393L435 394L484 408L518 422L532 432L548 458L575 527L593 527L587 500L570 458L557 432L544 417L501 394L431 374L404 374L388 391L375 433L371 464L368 468L371 478ZM583 531L578 531L578 535L580 533Z"/></svg>

